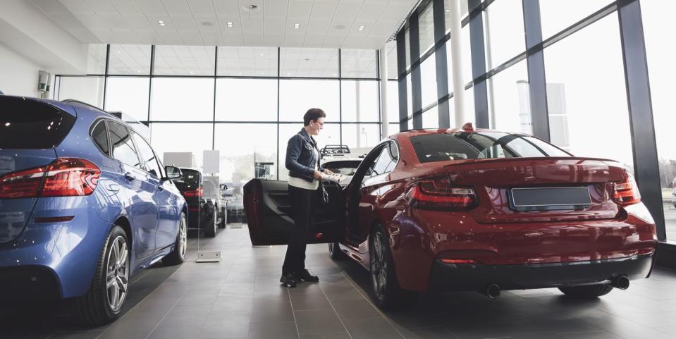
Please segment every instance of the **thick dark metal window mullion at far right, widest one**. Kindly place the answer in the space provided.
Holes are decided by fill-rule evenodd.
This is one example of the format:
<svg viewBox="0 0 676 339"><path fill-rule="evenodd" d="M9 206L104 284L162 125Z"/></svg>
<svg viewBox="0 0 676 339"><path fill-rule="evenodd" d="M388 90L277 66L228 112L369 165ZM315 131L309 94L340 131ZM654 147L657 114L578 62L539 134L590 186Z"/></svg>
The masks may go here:
<svg viewBox="0 0 676 339"><path fill-rule="evenodd" d="M641 5L639 0L620 0L617 1L617 8L634 153L634 175L639 185L641 201L655 219L658 240L666 240ZM670 266L674 265L670 260L664 261Z"/></svg>

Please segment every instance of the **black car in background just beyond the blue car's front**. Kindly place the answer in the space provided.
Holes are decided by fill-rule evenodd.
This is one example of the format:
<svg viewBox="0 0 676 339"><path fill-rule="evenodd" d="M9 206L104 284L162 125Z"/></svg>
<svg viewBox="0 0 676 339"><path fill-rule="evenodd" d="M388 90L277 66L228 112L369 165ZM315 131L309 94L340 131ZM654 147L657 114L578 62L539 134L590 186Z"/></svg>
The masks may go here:
<svg viewBox="0 0 676 339"><path fill-rule="evenodd" d="M204 176L195 168L181 168L180 179L175 180L178 190L188 203L188 230L203 230L204 236L216 236L216 209L211 199L204 199Z"/></svg>

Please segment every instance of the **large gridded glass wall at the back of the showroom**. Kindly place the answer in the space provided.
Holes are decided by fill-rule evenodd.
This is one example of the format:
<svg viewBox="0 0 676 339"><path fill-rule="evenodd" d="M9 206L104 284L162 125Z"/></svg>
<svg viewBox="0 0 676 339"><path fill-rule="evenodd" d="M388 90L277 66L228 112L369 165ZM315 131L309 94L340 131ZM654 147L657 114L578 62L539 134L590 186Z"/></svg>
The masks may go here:
<svg viewBox="0 0 676 339"><path fill-rule="evenodd" d="M147 123L163 159L166 152L191 152L191 166L202 168L203 151L220 150L223 181L235 174L242 182L286 178L286 143L309 108L326 111L315 138L320 148L381 140L373 49L92 44L88 54L87 75L57 76L57 99ZM396 101L396 91L390 93ZM391 111L398 114L398 107Z"/></svg>

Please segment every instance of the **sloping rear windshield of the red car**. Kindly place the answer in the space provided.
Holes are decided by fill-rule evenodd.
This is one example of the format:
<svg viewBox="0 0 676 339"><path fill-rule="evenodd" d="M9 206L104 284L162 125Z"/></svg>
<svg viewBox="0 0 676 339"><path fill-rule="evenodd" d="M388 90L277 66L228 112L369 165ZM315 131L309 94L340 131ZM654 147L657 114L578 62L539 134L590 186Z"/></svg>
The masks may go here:
<svg viewBox="0 0 676 339"><path fill-rule="evenodd" d="M535 137L505 132L450 132L411 137L421 163L460 159L571 156Z"/></svg>

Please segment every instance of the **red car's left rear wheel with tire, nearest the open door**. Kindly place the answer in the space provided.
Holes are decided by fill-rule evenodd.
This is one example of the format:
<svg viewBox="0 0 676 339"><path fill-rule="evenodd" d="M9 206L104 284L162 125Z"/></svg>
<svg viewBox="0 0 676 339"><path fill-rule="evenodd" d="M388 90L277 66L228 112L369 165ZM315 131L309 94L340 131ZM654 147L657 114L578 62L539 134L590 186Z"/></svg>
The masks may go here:
<svg viewBox="0 0 676 339"><path fill-rule="evenodd" d="M388 237L379 225L369 238L371 299L381 309L396 309L413 300L412 292L402 290L394 270Z"/></svg>

